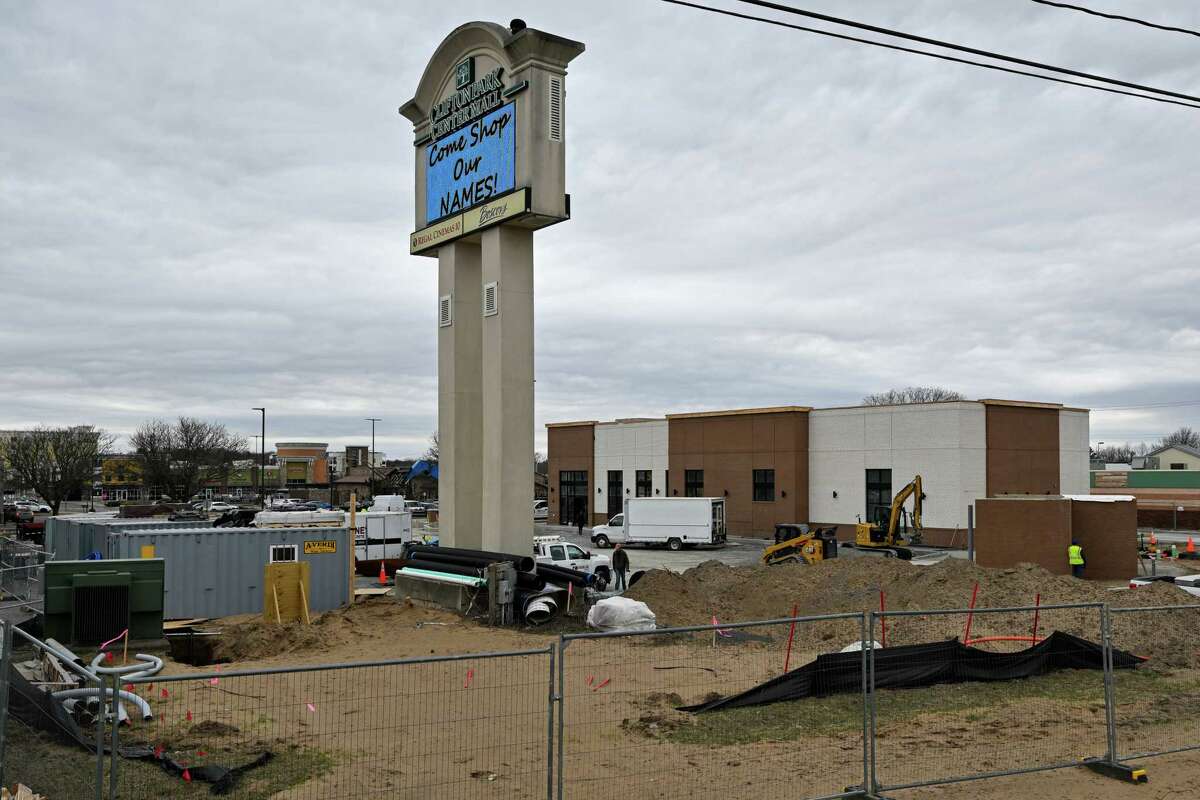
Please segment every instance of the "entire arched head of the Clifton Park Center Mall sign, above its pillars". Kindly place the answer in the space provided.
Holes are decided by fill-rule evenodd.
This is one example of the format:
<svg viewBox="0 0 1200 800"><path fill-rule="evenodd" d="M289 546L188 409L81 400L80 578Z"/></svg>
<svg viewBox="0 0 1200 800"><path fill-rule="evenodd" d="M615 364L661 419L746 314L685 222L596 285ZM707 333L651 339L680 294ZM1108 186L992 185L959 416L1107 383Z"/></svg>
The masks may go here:
<svg viewBox="0 0 1200 800"><path fill-rule="evenodd" d="M410 252L434 255L486 224L570 217L565 78L582 52L518 20L466 23L442 41L400 108L415 149Z"/></svg>

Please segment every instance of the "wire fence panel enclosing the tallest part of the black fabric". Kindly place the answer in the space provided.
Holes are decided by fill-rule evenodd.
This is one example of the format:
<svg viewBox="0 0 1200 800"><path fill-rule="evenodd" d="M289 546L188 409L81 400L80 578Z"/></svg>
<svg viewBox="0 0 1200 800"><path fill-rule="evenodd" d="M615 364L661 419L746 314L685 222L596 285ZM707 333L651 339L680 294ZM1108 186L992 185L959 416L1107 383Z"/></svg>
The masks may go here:
<svg viewBox="0 0 1200 800"><path fill-rule="evenodd" d="M878 792L1106 754L1102 606L871 618L887 642L870 660Z"/></svg>

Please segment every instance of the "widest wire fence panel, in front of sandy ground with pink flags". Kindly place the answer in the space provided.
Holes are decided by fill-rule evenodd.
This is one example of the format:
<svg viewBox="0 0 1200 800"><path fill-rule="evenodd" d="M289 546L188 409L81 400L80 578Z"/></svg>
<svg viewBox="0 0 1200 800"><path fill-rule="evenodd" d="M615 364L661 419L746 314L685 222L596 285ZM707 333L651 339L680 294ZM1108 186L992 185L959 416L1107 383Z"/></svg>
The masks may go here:
<svg viewBox="0 0 1200 800"><path fill-rule="evenodd" d="M132 681L154 710L121 730L120 800L545 800L554 648ZM193 787L185 789L184 783Z"/></svg>

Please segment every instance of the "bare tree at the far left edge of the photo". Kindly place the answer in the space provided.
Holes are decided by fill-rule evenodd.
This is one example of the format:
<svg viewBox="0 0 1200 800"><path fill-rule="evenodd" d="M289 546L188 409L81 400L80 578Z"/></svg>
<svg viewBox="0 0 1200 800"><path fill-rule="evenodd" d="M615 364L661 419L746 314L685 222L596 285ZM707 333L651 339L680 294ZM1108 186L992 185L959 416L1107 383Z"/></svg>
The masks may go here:
<svg viewBox="0 0 1200 800"><path fill-rule="evenodd" d="M96 459L113 441L113 437L90 425L38 427L13 434L0 444L0 451L17 483L31 487L58 513L68 497L85 486L91 492Z"/></svg>

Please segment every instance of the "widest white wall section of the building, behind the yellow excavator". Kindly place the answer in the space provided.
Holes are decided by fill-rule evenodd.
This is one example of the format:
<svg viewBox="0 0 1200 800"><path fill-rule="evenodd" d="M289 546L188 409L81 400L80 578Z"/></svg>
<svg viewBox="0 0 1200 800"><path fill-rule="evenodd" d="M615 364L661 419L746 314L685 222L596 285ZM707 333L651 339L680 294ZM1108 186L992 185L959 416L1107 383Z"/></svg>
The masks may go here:
<svg viewBox="0 0 1200 800"><path fill-rule="evenodd" d="M985 449L982 403L816 409L809 413L809 518L857 522L866 510L866 470L890 469L893 494L922 476L926 528L966 530L967 505L985 497Z"/></svg>

